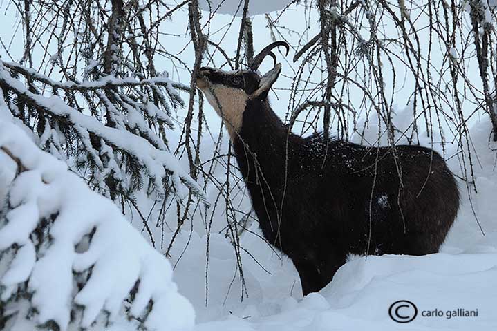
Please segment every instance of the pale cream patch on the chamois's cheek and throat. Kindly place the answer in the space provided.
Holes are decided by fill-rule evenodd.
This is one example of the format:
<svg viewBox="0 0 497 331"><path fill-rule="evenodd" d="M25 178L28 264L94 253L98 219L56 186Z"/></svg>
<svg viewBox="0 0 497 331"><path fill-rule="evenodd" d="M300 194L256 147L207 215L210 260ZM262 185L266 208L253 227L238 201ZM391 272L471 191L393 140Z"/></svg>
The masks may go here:
<svg viewBox="0 0 497 331"><path fill-rule="evenodd" d="M229 133L229 137L234 141L237 133L240 132L243 122L243 111L247 104L248 95L241 88L230 88L221 84L212 84L209 88L199 79L198 88L202 90L207 101L223 119ZM214 92L214 95L212 94ZM217 100L216 100L217 98ZM221 108L219 107L221 106Z"/></svg>

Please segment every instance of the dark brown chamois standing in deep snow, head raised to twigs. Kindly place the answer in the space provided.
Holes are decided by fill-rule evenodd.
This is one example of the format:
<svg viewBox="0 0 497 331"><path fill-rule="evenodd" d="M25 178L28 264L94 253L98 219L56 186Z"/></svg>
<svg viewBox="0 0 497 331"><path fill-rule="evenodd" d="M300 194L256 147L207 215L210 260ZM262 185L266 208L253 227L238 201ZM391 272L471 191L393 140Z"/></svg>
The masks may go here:
<svg viewBox="0 0 497 331"><path fill-rule="evenodd" d="M290 132L268 102L281 71L264 48L248 70L200 68L221 115L263 236L292 259L303 295L325 287L348 254L438 252L459 208L443 158L422 146L371 147ZM265 75L264 57L274 59Z"/></svg>

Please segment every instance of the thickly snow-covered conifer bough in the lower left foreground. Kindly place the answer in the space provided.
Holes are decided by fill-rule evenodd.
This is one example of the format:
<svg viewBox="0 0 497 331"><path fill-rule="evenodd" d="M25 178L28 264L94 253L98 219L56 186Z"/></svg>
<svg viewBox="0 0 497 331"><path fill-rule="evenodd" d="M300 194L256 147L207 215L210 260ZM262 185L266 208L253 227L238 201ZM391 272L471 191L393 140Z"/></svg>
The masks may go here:
<svg viewBox="0 0 497 331"><path fill-rule="evenodd" d="M50 108L49 100L22 93ZM85 130L97 127L62 102L57 108ZM106 138L118 143L111 130L104 131ZM74 330L112 322L135 324L134 330L191 328L194 310L178 294L167 259L111 200L89 189L64 162L39 150L1 104L0 153L16 162L19 171L0 214L2 330L25 330L27 325Z"/></svg>

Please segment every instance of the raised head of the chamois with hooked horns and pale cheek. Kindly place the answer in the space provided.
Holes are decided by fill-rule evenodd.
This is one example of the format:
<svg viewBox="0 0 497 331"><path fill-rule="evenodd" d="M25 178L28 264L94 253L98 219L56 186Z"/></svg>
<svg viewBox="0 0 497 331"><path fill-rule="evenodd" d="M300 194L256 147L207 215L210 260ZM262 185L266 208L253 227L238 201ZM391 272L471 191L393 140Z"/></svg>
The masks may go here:
<svg viewBox="0 0 497 331"><path fill-rule="evenodd" d="M276 64L276 55L272 49L285 46L286 54L290 46L284 41L276 41L266 46L249 64L248 70L223 71L215 68L200 68L197 86L207 97L207 101L225 121L232 139L241 128L243 111L247 100L261 100L268 97L268 92L278 79L281 64ZM267 56L274 60L274 68L261 75L257 70Z"/></svg>

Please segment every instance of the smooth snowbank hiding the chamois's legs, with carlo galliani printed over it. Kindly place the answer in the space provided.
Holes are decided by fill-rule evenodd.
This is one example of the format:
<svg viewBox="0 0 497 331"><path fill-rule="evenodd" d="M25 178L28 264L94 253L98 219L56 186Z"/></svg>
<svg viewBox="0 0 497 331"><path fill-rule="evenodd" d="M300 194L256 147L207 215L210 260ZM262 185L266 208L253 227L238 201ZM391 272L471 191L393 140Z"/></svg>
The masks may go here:
<svg viewBox="0 0 497 331"><path fill-rule="evenodd" d="M497 276L495 254L357 257L339 269L319 293L274 316L229 319L198 325L196 330L399 330L388 307L400 299L417 305L409 330L492 330ZM478 309L478 319L426 318L422 311ZM478 324L476 324L476 320Z"/></svg>

